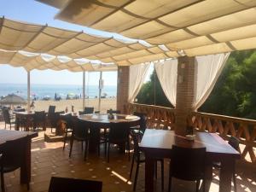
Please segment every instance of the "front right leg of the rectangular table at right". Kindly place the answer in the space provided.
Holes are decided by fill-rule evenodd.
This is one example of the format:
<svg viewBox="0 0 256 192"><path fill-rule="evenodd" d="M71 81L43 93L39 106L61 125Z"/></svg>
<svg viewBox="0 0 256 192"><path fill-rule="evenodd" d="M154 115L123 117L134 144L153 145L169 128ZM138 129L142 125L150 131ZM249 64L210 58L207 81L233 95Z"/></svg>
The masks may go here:
<svg viewBox="0 0 256 192"><path fill-rule="evenodd" d="M221 161L221 168L219 173L219 192L231 191L231 180L235 160L233 158L225 158Z"/></svg>

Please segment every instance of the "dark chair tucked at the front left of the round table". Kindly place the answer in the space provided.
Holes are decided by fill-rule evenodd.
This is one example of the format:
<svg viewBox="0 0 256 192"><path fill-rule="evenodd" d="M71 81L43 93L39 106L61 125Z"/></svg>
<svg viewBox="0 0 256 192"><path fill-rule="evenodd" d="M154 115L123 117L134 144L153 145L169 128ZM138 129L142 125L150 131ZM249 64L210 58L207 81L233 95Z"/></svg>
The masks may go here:
<svg viewBox="0 0 256 192"><path fill-rule="evenodd" d="M83 146L83 142L85 142L84 160L86 160L87 150L88 150L88 146L89 146L89 137L90 137L89 127L86 124L86 122L84 122L80 119L73 119L73 131L72 131L72 136L70 138L69 157L71 157L71 154L72 154L73 141L77 140L77 141L82 142L82 146Z"/></svg>

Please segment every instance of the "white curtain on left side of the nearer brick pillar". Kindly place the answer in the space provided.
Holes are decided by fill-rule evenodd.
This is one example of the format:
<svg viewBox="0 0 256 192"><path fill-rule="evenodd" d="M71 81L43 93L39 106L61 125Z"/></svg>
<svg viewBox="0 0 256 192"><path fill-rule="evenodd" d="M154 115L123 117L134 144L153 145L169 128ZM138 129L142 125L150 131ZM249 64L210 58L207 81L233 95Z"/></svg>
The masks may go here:
<svg viewBox="0 0 256 192"><path fill-rule="evenodd" d="M175 107L177 89L177 60L159 61L154 64L154 67L167 99Z"/></svg>

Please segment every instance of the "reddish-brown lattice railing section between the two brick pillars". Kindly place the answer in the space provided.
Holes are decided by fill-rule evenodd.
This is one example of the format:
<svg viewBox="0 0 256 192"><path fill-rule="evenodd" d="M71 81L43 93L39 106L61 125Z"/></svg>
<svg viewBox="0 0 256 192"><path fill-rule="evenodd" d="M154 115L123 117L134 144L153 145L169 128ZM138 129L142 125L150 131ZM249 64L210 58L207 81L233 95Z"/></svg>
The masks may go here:
<svg viewBox="0 0 256 192"><path fill-rule="evenodd" d="M130 103L127 106L127 111L128 113L146 113L148 117L147 124L150 128L169 130L174 128L175 115L173 108Z"/></svg>

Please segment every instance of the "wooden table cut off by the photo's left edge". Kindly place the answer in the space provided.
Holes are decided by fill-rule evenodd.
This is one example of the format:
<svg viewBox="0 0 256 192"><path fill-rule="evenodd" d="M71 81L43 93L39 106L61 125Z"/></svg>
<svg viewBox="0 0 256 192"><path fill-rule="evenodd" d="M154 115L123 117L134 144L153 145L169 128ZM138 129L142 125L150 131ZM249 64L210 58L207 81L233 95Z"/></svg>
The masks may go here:
<svg viewBox="0 0 256 192"><path fill-rule="evenodd" d="M37 132L32 131L11 131L0 130L0 151L7 141L26 137L26 150L23 153L23 160L20 167L20 183L31 181L31 142L33 137L38 137Z"/></svg>

